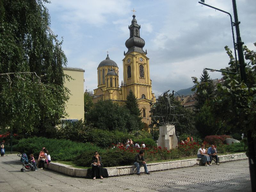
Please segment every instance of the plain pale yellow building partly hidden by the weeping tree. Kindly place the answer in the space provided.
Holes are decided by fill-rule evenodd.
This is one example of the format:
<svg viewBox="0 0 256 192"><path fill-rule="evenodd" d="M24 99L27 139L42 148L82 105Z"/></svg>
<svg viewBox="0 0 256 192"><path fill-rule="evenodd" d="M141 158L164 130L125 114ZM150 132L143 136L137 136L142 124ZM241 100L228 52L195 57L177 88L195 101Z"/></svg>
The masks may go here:
<svg viewBox="0 0 256 192"><path fill-rule="evenodd" d="M68 116L61 119L62 126L66 122L84 120L84 70L81 68L63 68L64 74L71 76L69 81L65 78L64 86L70 90L69 100L66 102Z"/></svg>

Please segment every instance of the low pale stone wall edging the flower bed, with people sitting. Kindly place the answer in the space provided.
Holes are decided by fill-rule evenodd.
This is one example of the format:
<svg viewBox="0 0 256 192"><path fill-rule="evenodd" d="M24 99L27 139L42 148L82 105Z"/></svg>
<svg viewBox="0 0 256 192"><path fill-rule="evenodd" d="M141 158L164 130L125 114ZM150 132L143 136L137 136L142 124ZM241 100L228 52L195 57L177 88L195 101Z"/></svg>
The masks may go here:
<svg viewBox="0 0 256 192"><path fill-rule="evenodd" d="M226 161L234 161L247 159L248 157L245 153L237 153L230 155L221 155L219 156L220 163ZM201 159L185 159L185 160L177 160L177 161L167 161L167 162L159 162L159 163L149 163L148 171L160 171L167 169L176 169L181 167L190 167L194 165L202 164ZM66 175L75 176L75 177L85 177L87 174L87 169L79 169L72 167L71 165L61 164L61 163L49 163L48 169L56 172L60 172ZM119 166L119 167L107 167L109 176L119 176L126 174L136 173L136 167L132 165L128 166ZM140 172L144 172L144 167L140 168Z"/></svg>

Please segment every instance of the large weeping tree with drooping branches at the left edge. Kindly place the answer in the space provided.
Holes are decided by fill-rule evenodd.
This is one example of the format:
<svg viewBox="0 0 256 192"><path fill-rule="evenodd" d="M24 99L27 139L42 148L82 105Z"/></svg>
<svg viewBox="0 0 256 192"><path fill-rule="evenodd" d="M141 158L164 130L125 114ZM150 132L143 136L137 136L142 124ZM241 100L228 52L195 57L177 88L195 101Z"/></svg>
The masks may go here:
<svg viewBox="0 0 256 192"><path fill-rule="evenodd" d="M0 0L0 127L23 136L53 137L69 98L67 59L44 3Z"/></svg>

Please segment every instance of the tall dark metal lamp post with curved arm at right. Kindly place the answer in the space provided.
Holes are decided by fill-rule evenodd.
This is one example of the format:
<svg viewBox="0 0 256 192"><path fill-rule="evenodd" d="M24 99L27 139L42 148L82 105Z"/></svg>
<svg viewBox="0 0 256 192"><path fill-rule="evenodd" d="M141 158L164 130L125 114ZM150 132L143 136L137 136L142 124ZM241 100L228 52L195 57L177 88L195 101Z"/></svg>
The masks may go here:
<svg viewBox="0 0 256 192"><path fill-rule="evenodd" d="M200 4L206 5L208 7L217 9L221 12L224 12L218 8L212 7L210 5L204 4L204 0L201 0L201 2L198 2ZM238 61L239 61L239 68L240 68L240 78L241 81L246 83L246 73L245 73L245 64L244 64L244 53L243 53L243 44L240 36L240 30L239 30L239 24L240 21L238 21L238 15L237 15L237 9L236 9L236 0L232 0L233 5L233 12L234 12L234 20L233 26L236 28L236 45L234 42L234 48L235 48L235 54L236 54L236 48L238 53ZM226 12L227 13L227 12ZM228 13L230 15L230 13ZM231 15L230 15L231 17ZM231 20L232 22L232 20ZM233 27L232 27L232 33L233 33ZM233 41L234 41L234 34L233 34ZM220 70L216 70L220 71ZM221 71L226 72L226 71ZM252 132L247 131L247 141L248 141L248 158L249 158L249 170L250 170L250 177L251 177L251 187L252 191L256 191L256 154L254 149L254 140L252 138Z"/></svg>

